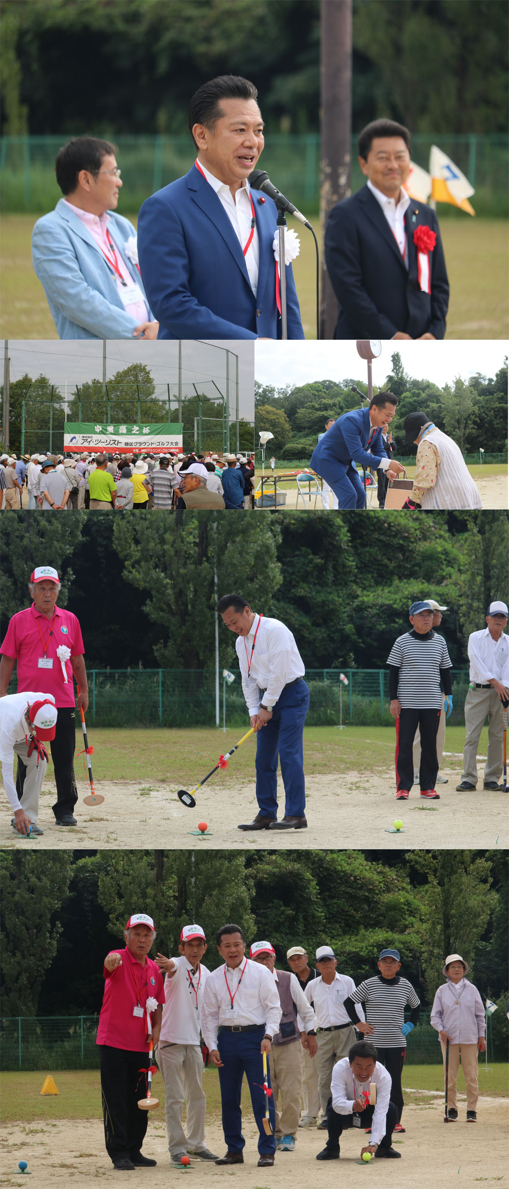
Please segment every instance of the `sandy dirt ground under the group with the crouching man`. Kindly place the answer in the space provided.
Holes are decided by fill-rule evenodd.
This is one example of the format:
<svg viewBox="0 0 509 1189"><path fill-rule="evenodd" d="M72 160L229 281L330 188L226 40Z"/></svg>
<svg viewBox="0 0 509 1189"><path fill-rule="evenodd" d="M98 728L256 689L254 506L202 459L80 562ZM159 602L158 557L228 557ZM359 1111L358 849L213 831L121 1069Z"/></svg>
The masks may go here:
<svg viewBox="0 0 509 1189"><path fill-rule="evenodd" d="M176 1185L180 1178L190 1178L196 1185L210 1181L219 1185L221 1182L225 1184L226 1178L234 1178L238 1189L268 1189L269 1185L294 1189L306 1184L329 1187L331 1171L333 1182L343 1182L348 1189L352 1184L360 1184L364 1177L376 1178L377 1184L390 1189L436 1189L436 1185L444 1184L461 1189L480 1181L507 1184L507 1107L505 1099L482 1097L477 1107L478 1122L466 1126L466 1106L465 1101L460 1101L458 1122L446 1127L442 1122L444 1100L431 1095L423 1105L404 1108L407 1131L395 1137L394 1144L401 1152L397 1163L384 1159L373 1159L367 1165L357 1163L366 1138L353 1128L344 1137L339 1162L318 1163L315 1156L326 1135L312 1128L299 1132L295 1152L276 1153L275 1166L259 1170L256 1166L256 1128L246 1113L245 1164L218 1168L196 1162L190 1171L170 1166L164 1119L159 1109L150 1116L143 1146L145 1156L157 1159L157 1168L138 1169L132 1179L127 1172L114 1171L105 1151L102 1126L95 1120L51 1122L45 1133L26 1124L11 1124L2 1128L0 1183L19 1187L20 1175L15 1170L18 1160L25 1159L33 1175L33 1184L39 1189L63 1187L69 1181L73 1185L89 1185L98 1177L106 1177L114 1184L150 1184L151 1189L166 1189L168 1183ZM219 1122L207 1126L206 1140L210 1151L224 1156L225 1141Z"/></svg>

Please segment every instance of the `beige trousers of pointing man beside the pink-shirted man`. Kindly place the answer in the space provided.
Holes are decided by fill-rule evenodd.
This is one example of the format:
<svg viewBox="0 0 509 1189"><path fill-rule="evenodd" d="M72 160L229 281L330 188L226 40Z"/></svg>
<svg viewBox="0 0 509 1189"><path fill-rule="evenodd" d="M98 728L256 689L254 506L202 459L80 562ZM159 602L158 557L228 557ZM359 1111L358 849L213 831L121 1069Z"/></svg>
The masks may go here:
<svg viewBox="0 0 509 1189"><path fill-rule="evenodd" d="M206 1096L201 1086L203 1059L197 1044L171 1044L157 1046L157 1064L164 1082L164 1112L166 1116L168 1151L196 1152L205 1147ZM182 1107L186 1099L186 1128L182 1126Z"/></svg>

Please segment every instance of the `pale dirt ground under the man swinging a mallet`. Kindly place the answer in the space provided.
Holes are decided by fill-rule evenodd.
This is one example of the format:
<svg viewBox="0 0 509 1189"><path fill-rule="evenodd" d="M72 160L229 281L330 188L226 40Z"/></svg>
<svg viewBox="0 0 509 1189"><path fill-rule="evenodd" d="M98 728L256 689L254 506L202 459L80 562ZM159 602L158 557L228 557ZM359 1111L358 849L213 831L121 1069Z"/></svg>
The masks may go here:
<svg viewBox="0 0 509 1189"><path fill-rule="evenodd" d="M307 830L259 830L244 832L237 826L251 822L258 806L254 781L239 786L237 793L221 788L220 781L203 786L196 794L196 809L188 810L176 795L176 786L140 786L136 781L100 781L96 793L101 805L83 805L89 787L78 782L80 800L75 809L77 826L56 826L51 804L55 792L43 792L38 824L44 836L21 838L10 826L8 812L1 813L0 844L5 848L88 849L101 848L193 848L213 849L322 849L327 847L362 849L403 848L507 848L508 793L486 792L482 781L477 792L457 793L458 761L452 768L444 757L441 774L447 785L439 785L440 800L421 805L413 788L408 801L396 801L394 769L377 773L366 781L365 773L307 778ZM283 786L278 776L279 818L283 817ZM5 798L4 798L5 801ZM282 804L283 803L283 804ZM403 822L400 833L390 832L395 819ZM208 823L206 835L194 835L199 822Z"/></svg>

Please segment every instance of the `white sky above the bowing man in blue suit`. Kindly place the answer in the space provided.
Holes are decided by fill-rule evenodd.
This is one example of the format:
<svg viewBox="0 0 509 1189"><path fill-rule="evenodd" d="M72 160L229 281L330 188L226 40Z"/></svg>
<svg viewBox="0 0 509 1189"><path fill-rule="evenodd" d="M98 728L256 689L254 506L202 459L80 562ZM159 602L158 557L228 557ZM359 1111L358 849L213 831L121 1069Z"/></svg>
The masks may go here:
<svg viewBox="0 0 509 1189"><path fill-rule="evenodd" d="M392 370L391 356L398 351L407 375L429 379L439 385L454 382L455 376L467 380L480 372L495 376L508 353L508 344L492 340L442 340L440 342L392 344L384 341L378 359L373 359L373 390L383 388ZM354 379L367 383L367 364L357 353L354 341L323 342L257 342L254 347L254 379L260 384L297 386L308 380Z"/></svg>

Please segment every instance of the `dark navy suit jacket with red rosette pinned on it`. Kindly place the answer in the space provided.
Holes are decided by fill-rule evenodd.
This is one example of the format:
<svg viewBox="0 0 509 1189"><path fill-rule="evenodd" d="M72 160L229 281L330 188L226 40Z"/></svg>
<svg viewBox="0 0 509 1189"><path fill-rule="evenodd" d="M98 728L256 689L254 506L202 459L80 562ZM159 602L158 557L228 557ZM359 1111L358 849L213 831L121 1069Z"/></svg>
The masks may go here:
<svg viewBox="0 0 509 1189"><path fill-rule="evenodd" d="M328 216L325 258L339 302L335 339L391 339L398 331L419 339L442 339L448 308L448 279L435 212L410 200L404 215L408 270L382 207L367 185L338 202ZM416 227L436 232L428 253L431 294L417 277Z"/></svg>

